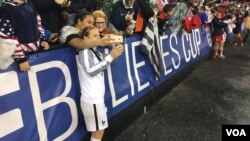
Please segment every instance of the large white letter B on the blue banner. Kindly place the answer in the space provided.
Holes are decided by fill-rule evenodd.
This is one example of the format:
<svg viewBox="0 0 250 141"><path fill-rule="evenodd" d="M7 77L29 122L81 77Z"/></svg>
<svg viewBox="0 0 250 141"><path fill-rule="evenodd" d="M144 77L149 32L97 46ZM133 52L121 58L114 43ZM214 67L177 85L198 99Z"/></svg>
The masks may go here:
<svg viewBox="0 0 250 141"><path fill-rule="evenodd" d="M42 102L40 91L39 91L39 84L38 84L39 81L37 79L37 74L47 69L59 69L62 72L64 79L65 79L65 89L63 90L62 94L53 94L53 95L56 95L57 97L50 99L46 102ZM74 102L72 98L67 97L72 86L70 71L67 65L65 65L61 61L51 61L51 62L35 65L35 66L32 66L32 70L28 72L28 75L29 75L29 83L31 86L32 99L34 102L34 109L35 109L35 115L36 115L40 140L42 141L48 140L45 118L43 114L44 111L51 107L57 106L58 104L66 103L70 109L70 114L72 118L71 124L68 127L67 131L62 133L57 138L53 139L53 140L58 140L58 141L65 140L74 132L78 124L76 103ZM57 87L56 84L55 84L55 87Z"/></svg>

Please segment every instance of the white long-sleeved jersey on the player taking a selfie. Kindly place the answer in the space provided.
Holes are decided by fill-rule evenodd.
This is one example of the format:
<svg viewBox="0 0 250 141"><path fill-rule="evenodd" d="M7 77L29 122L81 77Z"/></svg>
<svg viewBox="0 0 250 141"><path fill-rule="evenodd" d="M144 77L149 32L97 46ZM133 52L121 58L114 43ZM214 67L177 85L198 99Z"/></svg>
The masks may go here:
<svg viewBox="0 0 250 141"><path fill-rule="evenodd" d="M99 59L97 56L99 56ZM103 70L112 61L113 58L110 55L103 57L95 49L83 49L79 52L77 66L82 101L93 104L104 103L105 84Z"/></svg>

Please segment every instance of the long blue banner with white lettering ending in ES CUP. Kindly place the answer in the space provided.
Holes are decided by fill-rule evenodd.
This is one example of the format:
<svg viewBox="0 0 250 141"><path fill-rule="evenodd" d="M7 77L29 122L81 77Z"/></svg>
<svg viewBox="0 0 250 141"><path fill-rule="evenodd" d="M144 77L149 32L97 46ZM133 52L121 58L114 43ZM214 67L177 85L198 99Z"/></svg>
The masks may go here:
<svg viewBox="0 0 250 141"><path fill-rule="evenodd" d="M163 62L158 80L141 36L124 38L124 53L105 71L105 104L111 118L171 76L211 51L208 29L160 37ZM110 49L101 48L108 53ZM79 141L87 133L80 109L80 87L74 48L29 56L31 70L16 64L0 71L0 141Z"/></svg>

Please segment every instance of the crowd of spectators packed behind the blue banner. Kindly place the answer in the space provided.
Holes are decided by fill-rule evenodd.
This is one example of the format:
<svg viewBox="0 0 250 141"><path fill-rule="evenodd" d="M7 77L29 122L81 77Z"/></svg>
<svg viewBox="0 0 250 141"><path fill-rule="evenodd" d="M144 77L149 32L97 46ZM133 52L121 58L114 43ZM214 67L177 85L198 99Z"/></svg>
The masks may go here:
<svg viewBox="0 0 250 141"><path fill-rule="evenodd" d="M141 33L144 31L150 17L156 17L158 19L160 35L164 35L164 31L167 28L172 29L173 32L179 32L181 29L186 32L191 32L192 29L201 25L208 26L211 29L215 46L215 55L213 58L225 58L222 49L223 43L220 41L225 40L223 39L225 36L224 33L232 32L234 34L235 46L244 46L244 41L246 41L249 34L249 30L247 30L246 36L244 38L241 36L242 23L247 24L247 19L249 19L247 18L249 3L245 0L237 2L233 0L1 1L3 1L1 3L4 5L6 5L8 1L27 3L33 11L41 17L41 21L39 22L41 22L41 27L43 28L42 34L44 37L42 40L47 41L50 44L50 48L60 45L60 41L58 40L60 31L63 26L75 26L75 19L78 18L77 16L79 15L77 15L77 13L80 11L92 13L94 21L91 24L99 29L102 37L107 34L129 36ZM218 14L221 14L220 19L217 16ZM231 19L231 21L228 21L229 19ZM0 26L2 27L3 25ZM213 30L214 28L219 30ZM222 32L223 36L221 35ZM17 35L13 35L15 38L20 38L16 36ZM109 41L106 40L105 45L108 44L107 42ZM100 45L100 43L98 45ZM29 51L24 50L24 54L26 52ZM218 57L217 54L221 55Z"/></svg>

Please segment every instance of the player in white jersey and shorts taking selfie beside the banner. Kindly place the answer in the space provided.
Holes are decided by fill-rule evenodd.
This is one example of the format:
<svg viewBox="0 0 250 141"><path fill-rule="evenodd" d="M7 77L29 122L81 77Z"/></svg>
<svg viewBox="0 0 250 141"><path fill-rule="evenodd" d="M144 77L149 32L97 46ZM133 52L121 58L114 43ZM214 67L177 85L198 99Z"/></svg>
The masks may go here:
<svg viewBox="0 0 250 141"><path fill-rule="evenodd" d="M96 27L86 27L83 29L82 38L100 39L100 33ZM122 53L122 44L113 47L106 56L97 51L96 47L79 52L77 66L81 87L81 109L87 130L92 133L91 141L100 141L104 129L108 127L103 71Z"/></svg>

